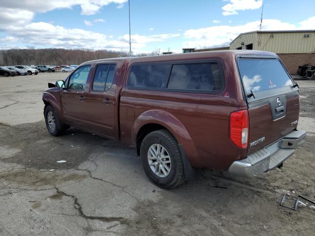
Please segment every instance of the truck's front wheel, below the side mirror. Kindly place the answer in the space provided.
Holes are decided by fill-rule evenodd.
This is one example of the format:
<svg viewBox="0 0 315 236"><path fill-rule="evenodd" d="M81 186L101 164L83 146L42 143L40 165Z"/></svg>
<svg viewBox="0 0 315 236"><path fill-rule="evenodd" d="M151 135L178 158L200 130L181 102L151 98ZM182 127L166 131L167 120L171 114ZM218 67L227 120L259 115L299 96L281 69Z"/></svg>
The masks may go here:
<svg viewBox="0 0 315 236"><path fill-rule="evenodd" d="M60 136L65 133L67 126L60 121L52 106L46 107L44 115L46 127L52 136Z"/></svg>

